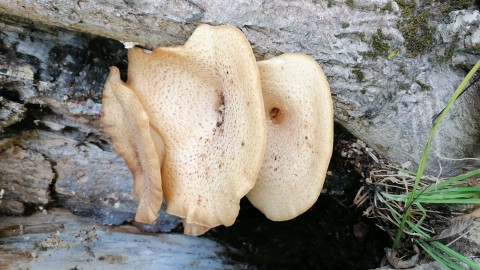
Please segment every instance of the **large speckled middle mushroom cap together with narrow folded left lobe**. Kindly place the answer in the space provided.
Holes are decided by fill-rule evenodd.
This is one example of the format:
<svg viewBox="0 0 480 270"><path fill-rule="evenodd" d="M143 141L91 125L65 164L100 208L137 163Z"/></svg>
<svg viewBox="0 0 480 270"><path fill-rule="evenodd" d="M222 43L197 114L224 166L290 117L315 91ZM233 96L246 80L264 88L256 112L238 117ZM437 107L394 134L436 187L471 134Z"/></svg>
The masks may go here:
<svg viewBox="0 0 480 270"><path fill-rule="evenodd" d="M128 60L126 83L111 69L102 120L134 175L136 218L152 222L163 192L167 213L184 219L187 234L232 225L266 147L260 76L246 37L235 27L200 25L184 46L131 48Z"/></svg>

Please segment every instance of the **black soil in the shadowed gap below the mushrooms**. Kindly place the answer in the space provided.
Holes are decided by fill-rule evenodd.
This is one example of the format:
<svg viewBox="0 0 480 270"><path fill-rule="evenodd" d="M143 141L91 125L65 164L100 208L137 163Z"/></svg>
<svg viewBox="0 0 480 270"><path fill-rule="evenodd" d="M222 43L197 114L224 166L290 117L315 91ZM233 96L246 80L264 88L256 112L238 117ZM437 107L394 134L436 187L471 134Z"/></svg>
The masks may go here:
<svg viewBox="0 0 480 270"><path fill-rule="evenodd" d="M390 237L353 205L368 158L343 157L345 146L356 139L340 127L335 134L326 192L310 210L291 221L273 222L244 199L233 226L214 228L205 237L240 251L230 255L258 269L379 267Z"/></svg>

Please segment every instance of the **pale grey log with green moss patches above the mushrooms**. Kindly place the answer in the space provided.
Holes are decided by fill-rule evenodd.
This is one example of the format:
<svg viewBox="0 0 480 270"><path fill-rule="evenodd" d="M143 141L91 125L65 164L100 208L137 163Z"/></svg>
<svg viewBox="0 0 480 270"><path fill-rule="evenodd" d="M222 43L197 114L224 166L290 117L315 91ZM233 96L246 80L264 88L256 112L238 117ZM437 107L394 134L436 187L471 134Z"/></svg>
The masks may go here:
<svg viewBox="0 0 480 270"><path fill-rule="evenodd" d="M336 121L393 162L415 164L432 117L478 59L480 14L454 11L465 5L405 5L24 0L2 1L0 12L147 48L182 44L199 23L235 25L259 59L284 52L314 57L330 80ZM478 101L478 91L470 91L456 103L434 142L431 170L439 158L479 154ZM444 171L463 165L442 164Z"/></svg>

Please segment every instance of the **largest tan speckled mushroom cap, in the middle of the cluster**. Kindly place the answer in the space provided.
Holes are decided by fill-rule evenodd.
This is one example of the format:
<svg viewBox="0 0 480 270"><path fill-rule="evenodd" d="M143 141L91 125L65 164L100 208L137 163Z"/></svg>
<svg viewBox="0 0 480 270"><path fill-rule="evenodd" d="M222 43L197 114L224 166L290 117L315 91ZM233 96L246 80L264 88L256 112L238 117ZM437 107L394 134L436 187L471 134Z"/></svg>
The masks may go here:
<svg viewBox="0 0 480 270"><path fill-rule="evenodd" d="M127 85L165 142L167 213L198 227L233 224L266 145L260 76L247 39L232 26L200 25L184 46L132 48L128 59Z"/></svg>

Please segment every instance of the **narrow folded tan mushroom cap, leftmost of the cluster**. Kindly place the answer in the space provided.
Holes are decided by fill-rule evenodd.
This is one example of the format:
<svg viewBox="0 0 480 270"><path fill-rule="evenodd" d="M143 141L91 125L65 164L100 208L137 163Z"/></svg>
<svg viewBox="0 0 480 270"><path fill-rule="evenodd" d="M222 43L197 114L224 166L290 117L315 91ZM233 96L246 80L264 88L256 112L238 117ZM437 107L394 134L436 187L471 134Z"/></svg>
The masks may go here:
<svg viewBox="0 0 480 270"><path fill-rule="evenodd" d="M133 174L139 199L135 220L153 222L162 205L160 164L165 147L135 94L121 81L116 67L110 68L103 91L102 122L115 150Z"/></svg>

